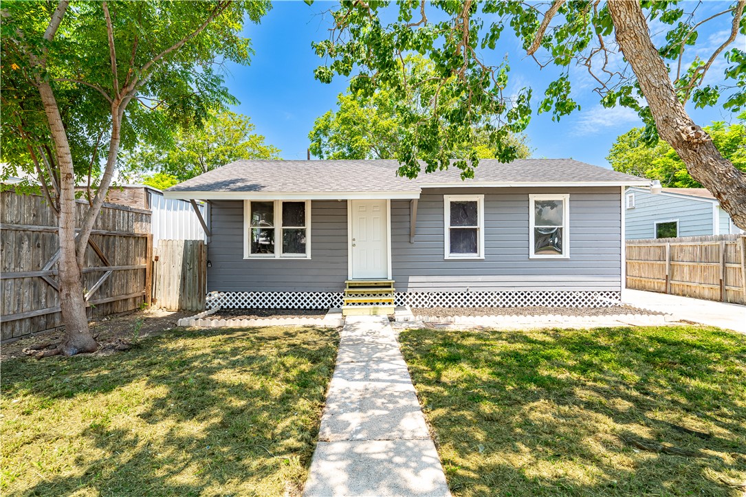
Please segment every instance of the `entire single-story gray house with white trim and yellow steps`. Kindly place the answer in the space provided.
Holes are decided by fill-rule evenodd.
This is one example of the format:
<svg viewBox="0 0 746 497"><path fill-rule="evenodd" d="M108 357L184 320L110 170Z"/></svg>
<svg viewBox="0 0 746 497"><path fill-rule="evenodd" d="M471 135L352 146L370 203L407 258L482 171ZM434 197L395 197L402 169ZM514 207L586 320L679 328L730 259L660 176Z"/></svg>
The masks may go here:
<svg viewBox="0 0 746 497"><path fill-rule="evenodd" d="M455 167L410 180L398 166L238 160L165 196L210 203L207 290L222 307L367 313L621 297L624 193L650 181L569 159L481 160L466 181Z"/></svg>

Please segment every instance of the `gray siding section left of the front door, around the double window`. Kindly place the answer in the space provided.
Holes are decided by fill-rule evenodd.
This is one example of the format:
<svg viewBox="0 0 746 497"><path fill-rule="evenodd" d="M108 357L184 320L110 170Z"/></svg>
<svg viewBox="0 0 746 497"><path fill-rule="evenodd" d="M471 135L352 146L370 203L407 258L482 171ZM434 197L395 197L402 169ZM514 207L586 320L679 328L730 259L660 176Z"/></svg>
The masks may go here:
<svg viewBox="0 0 746 497"><path fill-rule="evenodd" d="M340 292L347 279L347 204L311 202L311 259L244 259L243 201L213 201L207 290Z"/></svg>

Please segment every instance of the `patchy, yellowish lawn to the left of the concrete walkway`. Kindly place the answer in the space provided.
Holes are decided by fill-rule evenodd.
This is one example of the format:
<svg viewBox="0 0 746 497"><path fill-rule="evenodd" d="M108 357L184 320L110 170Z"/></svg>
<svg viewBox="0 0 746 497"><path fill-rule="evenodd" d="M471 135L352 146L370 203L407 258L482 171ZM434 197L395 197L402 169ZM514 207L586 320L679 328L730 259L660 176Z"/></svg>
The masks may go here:
<svg viewBox="0 0 746 497"><path fill-rule="evenodd" d="M110 356L5 360L1 493L297 494L338 340L174 330Z"/></svg>

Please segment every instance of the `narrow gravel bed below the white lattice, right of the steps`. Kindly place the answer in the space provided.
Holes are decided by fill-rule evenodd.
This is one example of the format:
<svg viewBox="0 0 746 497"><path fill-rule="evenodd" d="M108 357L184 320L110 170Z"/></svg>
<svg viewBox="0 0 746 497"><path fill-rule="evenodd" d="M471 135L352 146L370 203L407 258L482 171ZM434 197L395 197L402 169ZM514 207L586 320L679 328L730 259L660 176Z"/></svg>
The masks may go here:
<svg viewBox="0 0 746 497"><path fill-rule="evenodd" d="M630 305L613 307L413 307L415 316L615 316L662 314Z"/></svg>

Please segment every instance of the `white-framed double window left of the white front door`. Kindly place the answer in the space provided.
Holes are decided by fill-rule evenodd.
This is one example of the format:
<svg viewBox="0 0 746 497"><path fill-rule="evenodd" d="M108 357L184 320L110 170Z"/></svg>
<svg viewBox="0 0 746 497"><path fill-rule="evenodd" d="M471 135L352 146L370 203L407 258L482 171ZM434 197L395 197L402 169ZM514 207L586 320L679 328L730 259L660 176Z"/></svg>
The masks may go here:
<svg viewBox="0 0 746 497"><path fill-rule="evenodd" d="M244 258L308 258L310 201L247 200Z"/></svg>

